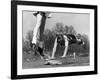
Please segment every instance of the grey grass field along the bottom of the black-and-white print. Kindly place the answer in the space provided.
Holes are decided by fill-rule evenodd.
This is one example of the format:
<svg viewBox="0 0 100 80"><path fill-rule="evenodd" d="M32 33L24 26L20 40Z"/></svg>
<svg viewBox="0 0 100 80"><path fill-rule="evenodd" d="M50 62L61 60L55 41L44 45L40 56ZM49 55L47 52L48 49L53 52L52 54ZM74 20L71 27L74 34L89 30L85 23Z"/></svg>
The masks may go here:
<svg viewBox="0 0 100 80"><path fill-rule="evenodd" d="M23 69L32 69L32 68L51 68L51 67L70 67L70 66L89 66L89 56L76 56L74 59L73 56L66 56L65 58L57 57L55 60L61 61L61 65L45 65L45 61L41 60L40 57L35 57L32 54L23 55ZM26 57L25 57L26 56Z"/></svg>

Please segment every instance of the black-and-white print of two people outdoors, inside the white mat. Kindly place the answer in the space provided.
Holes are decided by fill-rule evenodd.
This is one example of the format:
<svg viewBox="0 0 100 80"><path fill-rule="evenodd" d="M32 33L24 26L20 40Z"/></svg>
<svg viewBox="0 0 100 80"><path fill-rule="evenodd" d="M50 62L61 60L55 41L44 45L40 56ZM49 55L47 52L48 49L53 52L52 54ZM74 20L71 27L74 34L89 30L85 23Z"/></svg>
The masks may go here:
<svg viewBox="0 0 100 80"><path fill-rule="evenodd" d="M89 66L90 15L23 11L23 69Z"/></svg>

